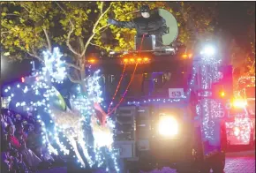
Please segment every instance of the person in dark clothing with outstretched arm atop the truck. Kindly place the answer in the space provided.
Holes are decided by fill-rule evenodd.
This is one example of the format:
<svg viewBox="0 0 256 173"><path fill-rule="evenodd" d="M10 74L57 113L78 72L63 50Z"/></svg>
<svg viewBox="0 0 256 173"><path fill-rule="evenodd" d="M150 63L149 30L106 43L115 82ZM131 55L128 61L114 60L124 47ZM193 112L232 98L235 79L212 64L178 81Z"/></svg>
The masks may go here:
<svg viewBox="0 0 256 173"><path fill-rule="evenodd" d="M168 27L166 21L158 12L151 14L148 5L142 5L140 7L141 17L132 19L131 21L117 21L116 19L108 19L110 25L126 28L135 28L137 31L137 37L142 35L155 35L155 46L162 46L162 35L168 33Z"/></svg>

